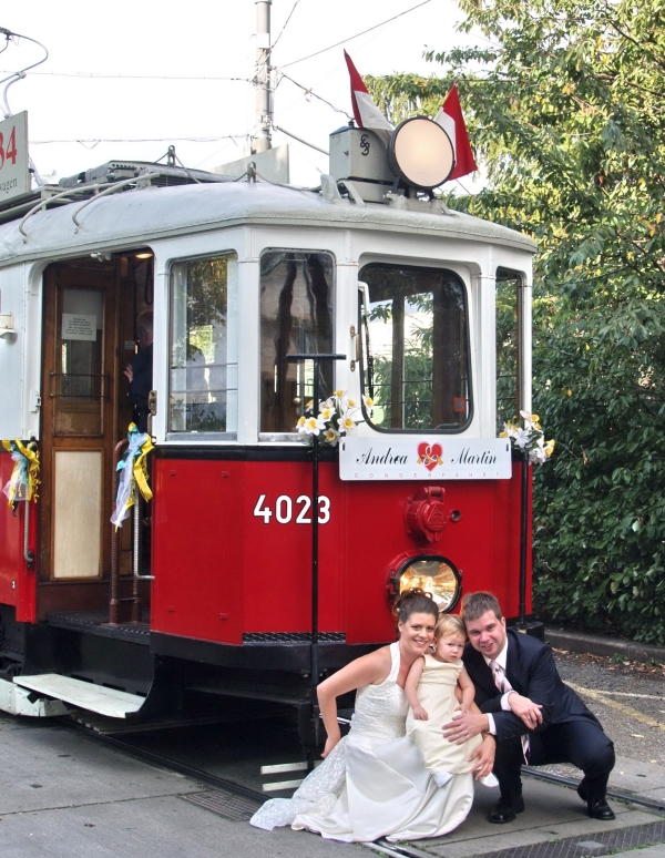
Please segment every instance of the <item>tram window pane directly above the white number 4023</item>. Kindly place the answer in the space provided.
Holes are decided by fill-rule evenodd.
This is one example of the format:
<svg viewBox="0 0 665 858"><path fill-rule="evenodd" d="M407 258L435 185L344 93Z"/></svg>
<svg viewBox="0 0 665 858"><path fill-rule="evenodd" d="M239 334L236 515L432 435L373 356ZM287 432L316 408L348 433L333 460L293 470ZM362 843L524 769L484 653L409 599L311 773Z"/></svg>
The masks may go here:
<svg viewBox="0 0 665 858"><path fill-rule="evenodd" d="M330 354L335 259L329 253L268 251L260 257L260 431L294 432L313 396L311 361L289 354ZM321 365L319 397L332 391Z"/></svg>

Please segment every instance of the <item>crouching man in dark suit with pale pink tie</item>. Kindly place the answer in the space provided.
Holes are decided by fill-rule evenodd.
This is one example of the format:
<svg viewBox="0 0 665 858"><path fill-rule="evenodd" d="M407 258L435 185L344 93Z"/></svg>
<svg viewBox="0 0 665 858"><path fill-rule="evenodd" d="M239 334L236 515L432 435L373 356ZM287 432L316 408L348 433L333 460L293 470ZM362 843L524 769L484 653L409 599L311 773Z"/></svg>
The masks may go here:
<svg viewBox="0 0 665 858"><path fill-rule="evenodd" d="M463 662L475 685L482 715L467 713L443 726L452 742L482 732L497 739L494 775L501 798L490 823L511 823L524 809L520 769L572 763L584 772L577 794L589 816L614 819L606 801L607 779L614 767L614 746L596 717L564 685L552 651L541 641L505 627L492 593L470 593L461 617L469 643Z"/></svg>

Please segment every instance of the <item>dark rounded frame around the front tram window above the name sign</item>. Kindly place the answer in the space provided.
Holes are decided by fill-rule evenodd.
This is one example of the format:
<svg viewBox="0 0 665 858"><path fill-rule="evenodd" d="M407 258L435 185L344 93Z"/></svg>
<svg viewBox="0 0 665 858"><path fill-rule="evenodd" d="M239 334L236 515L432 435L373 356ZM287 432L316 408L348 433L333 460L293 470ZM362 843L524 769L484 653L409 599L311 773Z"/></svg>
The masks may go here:
<svg viewBox="0 0 665 858"><path fill-rule="evenodd" d="M471 325L470 325L470 318L469 318L469 290L467 287L467 284L464 283L463 278L451 268L446 267L439 267L433 265L416 265L416 264L396 264L396 263L385 263L380 261L372 261L367 263L362 266L360 269L360 273L358 275L358 279L361 283L367 283L367 272L369 268L375 267L381 267L387 269L402 269L402 270L409 270L409 272L433 272L433 273L440 273L444 274L447 277L450 277L452 282L456 282L457 285L459 285L461 290L461 297L462 297L462 311L463 311L463 328L462 328L462 338L464 346L464 365L466 365L466 397L459 397L464 398L467 401L467 419L463 423L459 426L454 426L452 423L439 423L438 426L433 428L408 428L408 427L385 427L379 426L375 422L372 422L371 419L371 408L368 409L365 405L366 397L371 397L371 392L369 390L369 386L366 381L367 379L367 348L368 348L368 329L367 329L367 319L365 315L365 307L362 304L362 297L359 295L359 324L358 329L361 331L360 340L361 340L361 347L360 347L360 386L362 390L362 415L368 423L375 431L377 432L385 432L387 435L460 435L461 432L464 432L469 429L471 423L473 422L474 417L474 397L473 397L473 376L472 376L472 361L471 361L471 351L472 351L472 344L471 344ZM369 292L369 284L368 284L368 292ZM413 293L422 294L422 293ZM392 353L391 353L392 357ZM433 362L433 355L432 355L432 362ZM462 384L464 384L463 377L460 377L460 380ZM457 398L457 397L454 397ZM402 400L403 401L403 400Z"/></svg>

